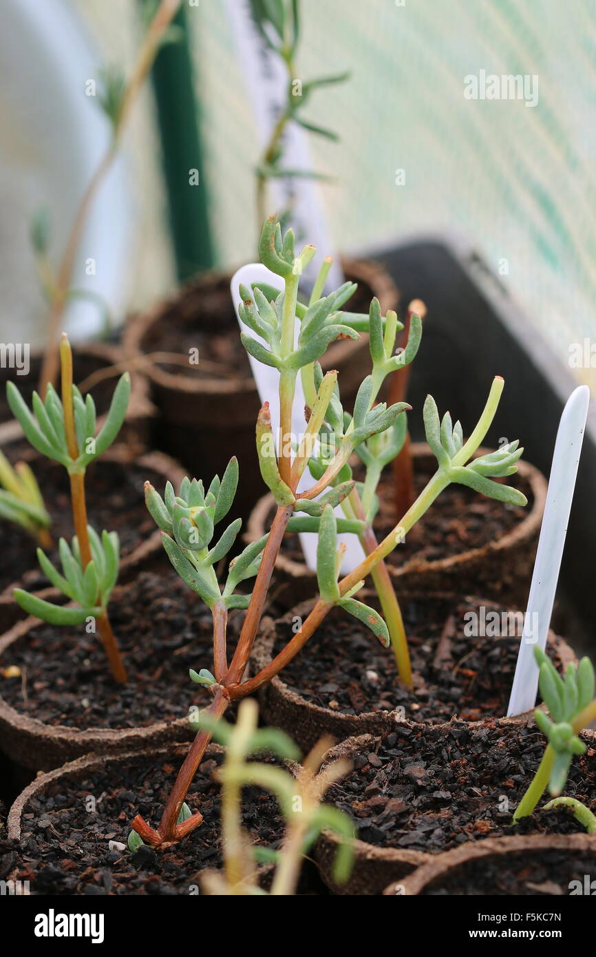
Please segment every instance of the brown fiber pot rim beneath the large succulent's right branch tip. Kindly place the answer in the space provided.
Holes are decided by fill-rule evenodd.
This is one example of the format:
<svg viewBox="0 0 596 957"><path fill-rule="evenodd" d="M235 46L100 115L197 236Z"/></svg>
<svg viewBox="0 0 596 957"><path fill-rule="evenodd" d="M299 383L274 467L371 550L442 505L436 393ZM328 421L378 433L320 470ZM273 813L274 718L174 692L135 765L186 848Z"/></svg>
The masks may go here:
<svg viewBox="0 0 596 957"><path fill-rule="evenodd" d="M475 453L475 458L485 456L491 449L481 446ZM434 458L426 442L412 442L411 454L419 458ZM496 541L489 542L476 548L468 548L466 551L459 552L457 555L450 555L446 558L437 558L429 562L427 559L418 559L415 556L410 558L399 568L387 563L387 570L392 578L400 579L410 572L457 572L457 569L468 562L485 557L487 554L502 551L505 548L514 547L520 540L531 538L541 527L544 505L546 502L546 492L548 483L541 471L526 462L519 459L518 474L527 481L532 491L532 507L524 515L521 521L514 525L512 529L501 535ZM275 508L275 499L271 492L262 496L254 505L253 512L249 518L247 531L244 535L246 542L255 542L265 534L267 516ZM307 568L305 562L295 562L293 559L285 556L281 551L277 554L276 568L284 571L293 578L303 578L313 580L316 578L316 572Z"/></svg>

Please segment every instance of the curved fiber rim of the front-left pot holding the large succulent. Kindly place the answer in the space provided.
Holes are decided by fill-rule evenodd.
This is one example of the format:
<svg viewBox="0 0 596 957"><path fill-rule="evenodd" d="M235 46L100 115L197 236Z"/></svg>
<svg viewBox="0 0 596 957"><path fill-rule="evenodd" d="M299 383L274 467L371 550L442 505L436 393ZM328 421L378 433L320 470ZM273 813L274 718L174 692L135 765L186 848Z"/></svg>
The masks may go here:
<svg viewBox="0 0 596 957"><path fill-rule="evenodd" d="M207 747L205 752L206 756L211 753L223 754L224 748L220 745L216 745L215 742L210 742L210 745ZM156 759L160 759L164 756L176 757L184 760L186 754L188 753L188 744L183 742L172 742L169 745L160 745L160 746L145 746L139 748L138 750L129 750L129 751L119 751L116 754L105 754L100 751L92 751L87 754L83 754L78 758L75 758L73 761L67 761L65 764L60 765L58 768L53 768L49 771L43 771L35 778L31 784L28 784L24 788L18 797L15 798L11 805L11 810L7 819L7 832L9 839L20 840L21 838L21 817L25 811L29 800L39 792L44 792L53 781L57 780L64 775L88 773L94 771L98 768L103 768L105 762L107 761L129 761L133 758L143 758L154 756Z"/></svg>

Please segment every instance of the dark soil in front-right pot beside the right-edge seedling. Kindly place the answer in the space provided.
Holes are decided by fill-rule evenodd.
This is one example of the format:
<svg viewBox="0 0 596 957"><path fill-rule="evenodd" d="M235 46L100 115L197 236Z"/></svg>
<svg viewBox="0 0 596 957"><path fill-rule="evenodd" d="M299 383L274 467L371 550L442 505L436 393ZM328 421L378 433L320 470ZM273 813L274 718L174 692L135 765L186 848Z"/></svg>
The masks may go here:
<svg viewBox="0 0 596 957"><path fill-rule="evenodd" d="M377 740L356 753L354 770L326 798L351 815L369 844L438 854L484 837L585 833L564 809L539 809L511 822L544 752L536 727L400 726ZM588 743L574 758L565 787L588 807L596 788L594 753Z"/></svg>

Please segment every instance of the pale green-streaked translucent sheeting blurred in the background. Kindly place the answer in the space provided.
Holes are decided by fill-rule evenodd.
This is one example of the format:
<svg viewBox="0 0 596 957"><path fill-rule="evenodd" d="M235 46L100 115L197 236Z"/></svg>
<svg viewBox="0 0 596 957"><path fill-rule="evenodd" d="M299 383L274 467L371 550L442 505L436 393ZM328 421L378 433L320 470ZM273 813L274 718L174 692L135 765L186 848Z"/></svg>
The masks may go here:
<svg viewBox="0 0 596 957"><path fill-rule="evenodd" d="M122 31L135 29L127 0L77 6L112 56L113 35L122 44ZM340 145L312 143L316 166L335 177L321 200L338 246L353 252L412 234L463 236L563 363L571 343L596 341L593 0L302 0L302 10L298 75L352 72L308 111L342 134ZM214 242L219 261L235 264L254 246L251 105L224 4L200 0L188 20ZM481 69L538 75L538 105L466 100L463 78ZM136 157L149 125L133 131ZM145 204L151 182L143 168ZM397 169L405 170L403 186ZM161 187L154 195L161 203ZM574 371L583 381L594 375Z"/></svg>

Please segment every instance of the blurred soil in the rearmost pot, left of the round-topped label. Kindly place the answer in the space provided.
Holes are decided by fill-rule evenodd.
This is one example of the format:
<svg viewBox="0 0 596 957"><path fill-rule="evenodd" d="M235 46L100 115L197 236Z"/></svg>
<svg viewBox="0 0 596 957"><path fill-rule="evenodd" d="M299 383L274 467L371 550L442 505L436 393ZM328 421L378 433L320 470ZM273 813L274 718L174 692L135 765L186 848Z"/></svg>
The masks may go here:
<svg viewBox="0 0 596 957"><path fill-rule="evenodd" d="M350 312L368 313L372 292L361 283L346 304ZM244 328L244 326L243 326ZM247 328L247 331L248 330ZM204 282L184 292L160 323L143 336L141 348L148 352L175 352L190 355L199 350L198 365L160 362L173 375L188 378L250 379L253 375L230 296L230 278Z"/></svg>

